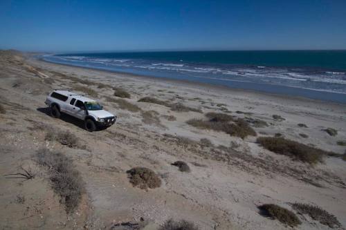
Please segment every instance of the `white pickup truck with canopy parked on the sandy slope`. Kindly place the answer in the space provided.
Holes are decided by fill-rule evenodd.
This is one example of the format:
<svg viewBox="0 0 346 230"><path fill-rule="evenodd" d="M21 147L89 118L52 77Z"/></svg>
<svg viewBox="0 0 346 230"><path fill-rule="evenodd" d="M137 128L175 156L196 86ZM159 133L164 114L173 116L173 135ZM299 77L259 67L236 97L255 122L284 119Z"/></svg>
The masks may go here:
<svg viewBox="0 0 346 230"><path fill-rule="evenodd" d="M104 111L95 100L67 90L54 90L44 103L51 108L53 117L59 118L61 113L66 113L82 119L85 129L90 132L107 128L116 122L116 116Z"/></svg>

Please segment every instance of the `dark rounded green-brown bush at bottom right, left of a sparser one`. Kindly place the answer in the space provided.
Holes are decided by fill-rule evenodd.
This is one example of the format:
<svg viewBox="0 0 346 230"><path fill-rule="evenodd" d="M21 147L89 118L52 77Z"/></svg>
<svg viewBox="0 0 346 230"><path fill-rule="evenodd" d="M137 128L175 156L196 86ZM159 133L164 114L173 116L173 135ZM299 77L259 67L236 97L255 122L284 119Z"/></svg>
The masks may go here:
<svg viewBox="0 0 346 230"><path fill-rule="evenodd" d="M258 208L262 211L262 215L277 219L283 224L287 224L291 227L302 224L295 213L276 204L263 204Z"/></svg>

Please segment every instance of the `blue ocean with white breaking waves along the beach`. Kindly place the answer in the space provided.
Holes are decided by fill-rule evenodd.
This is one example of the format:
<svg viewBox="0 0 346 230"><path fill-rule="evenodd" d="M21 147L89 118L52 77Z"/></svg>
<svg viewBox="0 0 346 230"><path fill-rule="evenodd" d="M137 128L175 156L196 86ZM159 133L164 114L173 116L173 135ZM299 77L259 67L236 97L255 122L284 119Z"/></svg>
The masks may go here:
<svg viewBox="0 0 346 230"><path fill-rule="evenodd" d="M42 59L346 104L346 50L82 52Z"/></svg>

